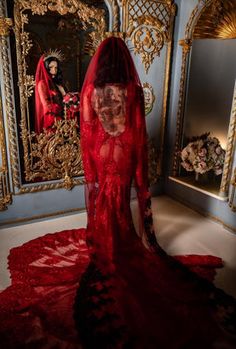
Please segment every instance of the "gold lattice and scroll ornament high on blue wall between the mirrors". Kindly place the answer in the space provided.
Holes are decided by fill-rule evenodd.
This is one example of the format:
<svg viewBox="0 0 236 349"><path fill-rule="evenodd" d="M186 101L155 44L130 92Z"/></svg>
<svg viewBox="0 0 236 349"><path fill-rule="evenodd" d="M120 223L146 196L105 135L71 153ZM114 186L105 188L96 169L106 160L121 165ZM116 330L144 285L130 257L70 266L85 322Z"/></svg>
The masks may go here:
<svg viewBox="0 0 236 349"><path fill-rule="evenodd" d="M123 1L124 29L127 39L134 45L147 73L154 58L160 55L171 37L175 5L172 1Z"/></svg>

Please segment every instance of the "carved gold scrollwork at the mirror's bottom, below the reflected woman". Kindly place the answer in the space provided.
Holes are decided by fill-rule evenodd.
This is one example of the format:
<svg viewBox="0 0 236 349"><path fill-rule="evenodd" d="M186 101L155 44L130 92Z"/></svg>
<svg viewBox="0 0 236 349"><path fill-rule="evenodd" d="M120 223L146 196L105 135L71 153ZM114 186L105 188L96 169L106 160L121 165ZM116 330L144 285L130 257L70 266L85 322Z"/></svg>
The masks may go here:
<svg viewBox="0 0 236 349"><path fill-rule="evenodd" d="M22 135L23 138L27 134ZM39 135L31 133L31 171L26 172L27 181L64 179L66 189L74 185L72 177L83 174L78 126L75 120L57 121L53 132ZM27 141L27 140L26 140ZM29 158L25 158L28 164ZM28 164L29 165L29 164Z"/></svg>

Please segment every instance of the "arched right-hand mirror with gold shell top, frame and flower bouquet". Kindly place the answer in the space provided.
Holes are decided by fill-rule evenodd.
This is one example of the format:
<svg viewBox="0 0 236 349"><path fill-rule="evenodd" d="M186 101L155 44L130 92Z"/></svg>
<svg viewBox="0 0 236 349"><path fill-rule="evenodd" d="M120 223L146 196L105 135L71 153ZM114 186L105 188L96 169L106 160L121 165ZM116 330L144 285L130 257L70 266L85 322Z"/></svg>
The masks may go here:
<svg viewBox="0 0 236 349"><path fill-rule="evenodd" d="M173 172L186 185L225 197L234 148L230 125L235 124L231 111L236 32L231 23L235 23L236 3L211 1L200 12L199 16L195 11L193 28L187 25L193 37L181 41L185 89L182 96L180 91Z"/></svg>

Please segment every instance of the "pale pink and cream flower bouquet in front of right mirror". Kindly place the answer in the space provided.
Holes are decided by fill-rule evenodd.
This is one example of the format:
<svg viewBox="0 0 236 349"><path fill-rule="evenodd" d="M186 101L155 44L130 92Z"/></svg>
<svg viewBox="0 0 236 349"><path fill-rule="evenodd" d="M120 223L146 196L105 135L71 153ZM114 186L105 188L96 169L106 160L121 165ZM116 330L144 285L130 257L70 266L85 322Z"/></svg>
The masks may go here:
<svg viewBox="0 0 236 349"><path fill-rule="evenodd" d="M180 157L186 171L203 174L212 170L217 176L223 172L225 150L216 137L210 137L210 132L193 137L180 152Z"/></svg>

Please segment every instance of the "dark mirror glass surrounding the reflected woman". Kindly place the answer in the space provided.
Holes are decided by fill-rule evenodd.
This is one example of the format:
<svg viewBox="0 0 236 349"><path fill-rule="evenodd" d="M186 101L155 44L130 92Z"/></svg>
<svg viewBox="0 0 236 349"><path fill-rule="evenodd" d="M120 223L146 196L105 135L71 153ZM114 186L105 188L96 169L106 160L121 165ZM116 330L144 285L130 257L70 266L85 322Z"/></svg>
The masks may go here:
<svg viewBox="0 0 236 349"><path fill-rule="evenodd" d="M73 15L60 16L55 12L48 12L44 16L32 15L30 11L26 11L26 14L29 20L25 25L25 31L29 33L32 43L29 54L26 56L27 74L35 78L36 68L42 54L56 50L62 55L62 60L59 62L62 74L61 86L65 92L80 91L90 57L82 55L85 35L79 19ZM36 88L38 86L35 85ZM28 98L30 115L28 127L31 131L37 132L35 89Z"/></svg>

